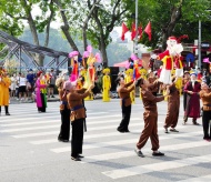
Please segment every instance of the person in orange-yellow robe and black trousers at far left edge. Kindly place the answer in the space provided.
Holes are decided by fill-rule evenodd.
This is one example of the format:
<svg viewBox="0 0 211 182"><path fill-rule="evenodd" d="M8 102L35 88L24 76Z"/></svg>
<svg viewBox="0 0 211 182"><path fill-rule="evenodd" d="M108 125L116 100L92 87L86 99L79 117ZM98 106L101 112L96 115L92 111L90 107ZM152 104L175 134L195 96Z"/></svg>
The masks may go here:
<svg viewBox="0 0 211 182"><path fill-rule="evenodd" d="M6 109L6 115L10 115L9 113L9 87L11 84L10 78L8 78L6 71L1 71L0 74L0 114L1 114L1 107Z"/></svg>

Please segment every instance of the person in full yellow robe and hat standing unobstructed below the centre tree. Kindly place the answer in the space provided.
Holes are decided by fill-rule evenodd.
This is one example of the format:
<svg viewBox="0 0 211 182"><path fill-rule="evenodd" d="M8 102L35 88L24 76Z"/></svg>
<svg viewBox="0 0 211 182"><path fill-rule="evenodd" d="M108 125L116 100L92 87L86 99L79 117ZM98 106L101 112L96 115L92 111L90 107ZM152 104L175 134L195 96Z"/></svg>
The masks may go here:
<svg viewBox="0 0 211 182"><path fill-rule="evenodd" d="M111 78L109 75L110 69L103 69L103 77L102 77L102 101L109 102L110 101L110 89L111 89Z"/></svg>

